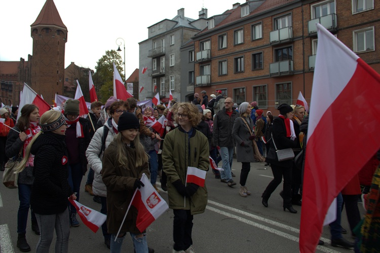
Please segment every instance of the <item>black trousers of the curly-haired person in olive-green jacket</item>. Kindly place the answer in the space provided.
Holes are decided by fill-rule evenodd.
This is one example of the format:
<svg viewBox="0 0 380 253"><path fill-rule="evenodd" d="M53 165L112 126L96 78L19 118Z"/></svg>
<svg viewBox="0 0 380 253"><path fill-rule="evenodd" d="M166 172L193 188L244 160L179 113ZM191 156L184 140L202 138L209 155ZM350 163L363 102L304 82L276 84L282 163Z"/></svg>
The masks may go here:
<svg viewBox="0 0 380 253"><path fill-rule="evenodd" d="M186 250L193 244L193 215L190 210L173 209L173 240L174 249L177 251Z"/></svg>

